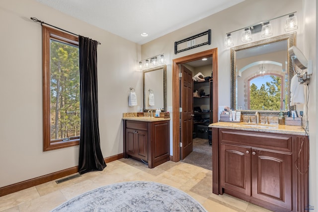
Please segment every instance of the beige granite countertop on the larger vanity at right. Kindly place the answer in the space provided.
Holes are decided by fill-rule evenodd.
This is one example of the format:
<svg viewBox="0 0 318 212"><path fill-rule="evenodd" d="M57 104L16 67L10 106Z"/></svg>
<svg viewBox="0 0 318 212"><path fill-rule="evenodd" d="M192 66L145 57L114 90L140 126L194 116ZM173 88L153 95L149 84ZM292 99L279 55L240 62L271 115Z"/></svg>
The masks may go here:
<svg viewBox="0 0 318 212"><path fill-rule="evenodd" d="M232 130L246 130L267 133L280 133L289 135L305 135L305 130L301 126L278 125L278 124L255 124L255 123L233 123L233 122L217 122L210 124L211 128L224 128ZM308 135L309 132L307 131Z"/></svg>

